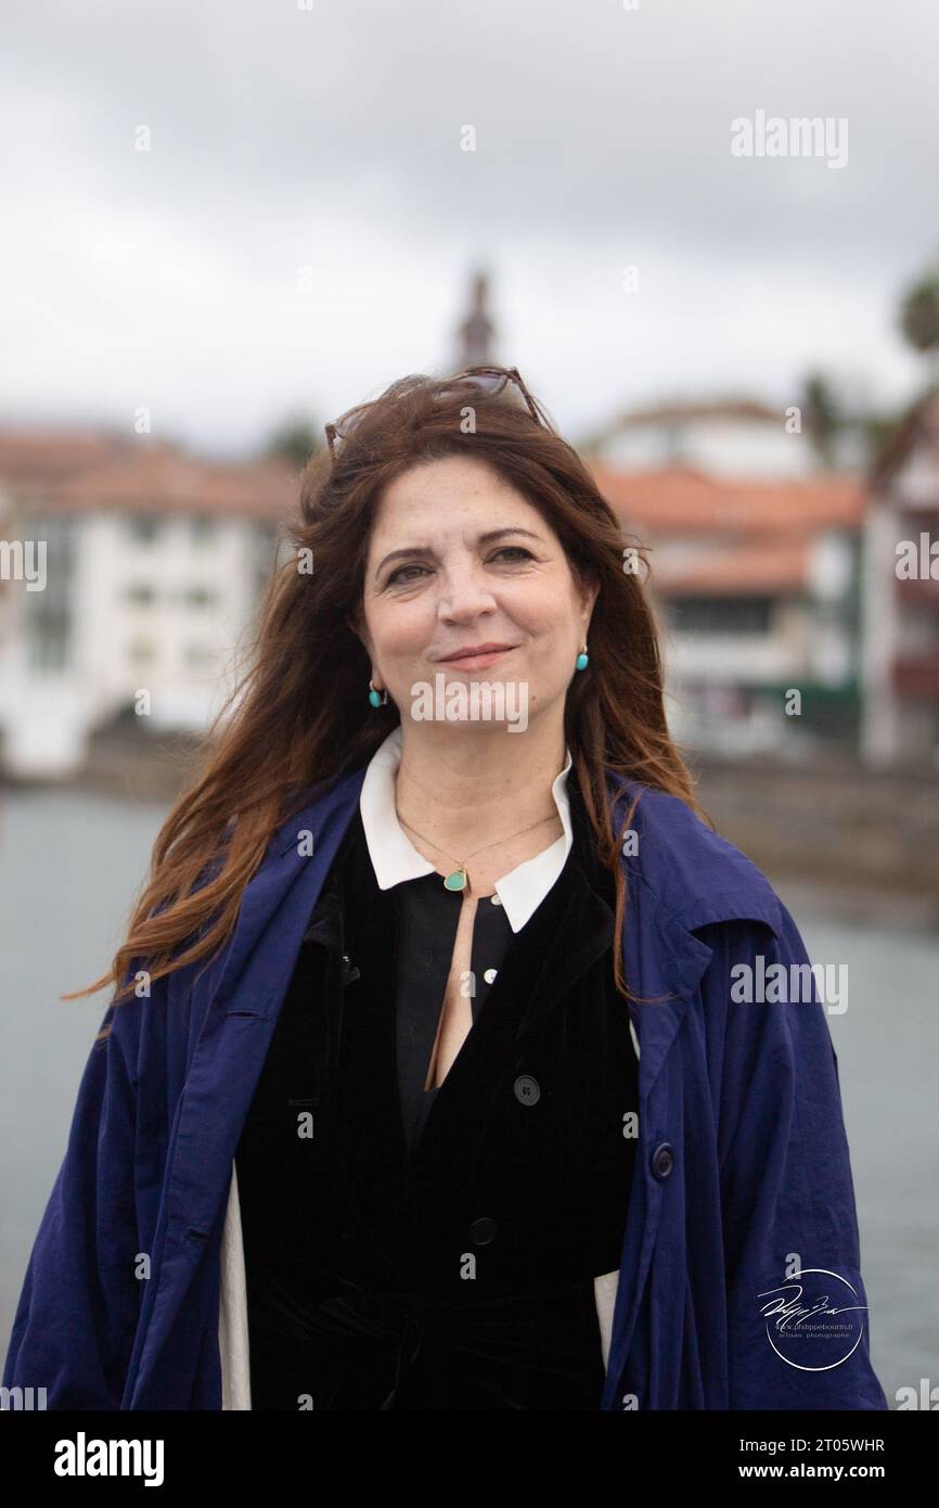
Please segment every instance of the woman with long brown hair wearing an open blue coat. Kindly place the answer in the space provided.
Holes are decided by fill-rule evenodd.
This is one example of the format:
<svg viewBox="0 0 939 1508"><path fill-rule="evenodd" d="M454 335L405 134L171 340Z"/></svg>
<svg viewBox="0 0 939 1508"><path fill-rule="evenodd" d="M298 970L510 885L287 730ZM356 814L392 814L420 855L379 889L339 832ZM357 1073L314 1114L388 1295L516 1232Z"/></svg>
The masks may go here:
<svg viewBox="0 0 939 1508"><path fill-rule="evenodd" d="M698 811L641 552L515 369L327 437L89 986L6 1386L885 1408L823 1006L739 988L808 959Z"/></svg>

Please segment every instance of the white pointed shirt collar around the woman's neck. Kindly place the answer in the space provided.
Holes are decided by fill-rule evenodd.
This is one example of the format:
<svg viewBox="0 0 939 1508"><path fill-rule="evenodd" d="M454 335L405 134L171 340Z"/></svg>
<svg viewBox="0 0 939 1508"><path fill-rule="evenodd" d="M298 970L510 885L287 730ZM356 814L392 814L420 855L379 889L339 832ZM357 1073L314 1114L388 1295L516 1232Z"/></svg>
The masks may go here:
<svg viewBox="0 0 939 1508"><path fill-rule="evenodd" d="M392 885L399 885L405 879L431 875L436 867L418 852L398 822L395 777L401 763L401 745L402 734L401 725L398 725L392 728L384 743L372 754L359 796L362 826L365 828L368 852L380 890L390 890ZM538 909L564 869L567 855L571 851L574 834L567 796L567 775L570 768L571 751L568 748L567 763L552 784L552 796L555 798L558 816L564 826L564 837L552 843L543 854L535 854L534 858L525 860L525 863L517 864L508 875L496 881L496 894L505 906L512 932L520 932L529 917Z"/></svg>

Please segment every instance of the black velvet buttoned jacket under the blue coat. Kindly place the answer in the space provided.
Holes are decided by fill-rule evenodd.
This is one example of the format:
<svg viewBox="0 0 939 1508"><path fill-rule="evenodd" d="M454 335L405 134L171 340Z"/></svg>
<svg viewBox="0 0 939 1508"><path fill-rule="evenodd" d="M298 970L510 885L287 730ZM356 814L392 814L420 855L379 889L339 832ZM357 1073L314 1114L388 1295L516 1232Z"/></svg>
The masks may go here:
<svg viewBox="0 0 939 1508"><path fill-rule="evenodd" d="M638 1065L574 772L568 798L567 864L410 1148L404 885L350 823L237 1152L255 1408L598 1408Z"/></svg>

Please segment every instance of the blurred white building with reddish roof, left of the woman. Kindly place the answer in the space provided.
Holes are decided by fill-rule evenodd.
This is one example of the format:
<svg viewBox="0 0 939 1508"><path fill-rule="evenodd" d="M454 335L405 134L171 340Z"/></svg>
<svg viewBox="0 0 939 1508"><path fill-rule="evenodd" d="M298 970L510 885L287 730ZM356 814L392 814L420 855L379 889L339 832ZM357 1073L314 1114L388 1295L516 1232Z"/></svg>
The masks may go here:
<svg viewBox="0 0 939 1508"><path fill-rule="evenodd" d="M297 493L280 463L39 439L0 434L0 763L18 778L75 772L121 715L205 730Z"/></svg>

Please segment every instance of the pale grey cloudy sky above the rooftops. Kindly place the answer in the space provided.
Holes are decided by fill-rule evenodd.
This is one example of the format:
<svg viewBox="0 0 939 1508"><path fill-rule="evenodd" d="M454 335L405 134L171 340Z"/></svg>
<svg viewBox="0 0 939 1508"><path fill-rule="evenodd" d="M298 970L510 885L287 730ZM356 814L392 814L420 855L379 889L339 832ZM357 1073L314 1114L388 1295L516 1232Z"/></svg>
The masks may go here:
<svg viewBox="0 0 939 1508"><path fill-rule="evenodd" d="M663 397L785 404L809 365L906 401L934 0L632 3L11 0L0 422L146 406L247 454L452 371L476 264L496 359L574 440ZM760 112L832 148L734 155Z"/></svg>

